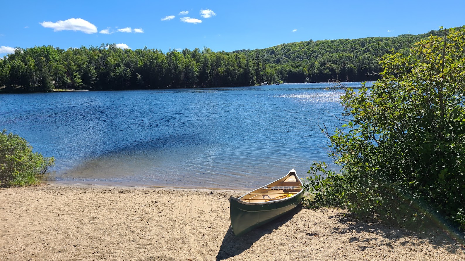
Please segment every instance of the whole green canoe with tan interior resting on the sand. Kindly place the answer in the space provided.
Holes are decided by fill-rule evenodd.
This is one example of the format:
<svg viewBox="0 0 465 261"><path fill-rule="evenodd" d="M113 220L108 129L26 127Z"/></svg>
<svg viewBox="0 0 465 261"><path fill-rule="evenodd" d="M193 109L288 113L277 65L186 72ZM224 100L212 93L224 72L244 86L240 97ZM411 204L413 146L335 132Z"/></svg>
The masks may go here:
<svg viewBox="0 0 465 261"><path fill-rule="evenodd" d="M231 228L241 236L300 204L302 181L292 169L286 176L259 189L230 199Z"/></svg>

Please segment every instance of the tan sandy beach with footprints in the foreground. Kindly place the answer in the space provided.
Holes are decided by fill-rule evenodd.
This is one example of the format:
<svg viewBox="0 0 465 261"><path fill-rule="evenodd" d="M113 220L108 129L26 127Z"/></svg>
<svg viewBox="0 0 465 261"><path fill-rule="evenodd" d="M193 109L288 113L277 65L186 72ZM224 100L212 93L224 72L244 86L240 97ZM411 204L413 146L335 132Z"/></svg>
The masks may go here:
<svg viewBox="0 0 465 261"><path fill-rule="evenodd" d="M56 184L0 189L0 260L465 260L464 246L439 230L365 223L341 209L295 209L238 238L228 198L241 194Z"/></svg>

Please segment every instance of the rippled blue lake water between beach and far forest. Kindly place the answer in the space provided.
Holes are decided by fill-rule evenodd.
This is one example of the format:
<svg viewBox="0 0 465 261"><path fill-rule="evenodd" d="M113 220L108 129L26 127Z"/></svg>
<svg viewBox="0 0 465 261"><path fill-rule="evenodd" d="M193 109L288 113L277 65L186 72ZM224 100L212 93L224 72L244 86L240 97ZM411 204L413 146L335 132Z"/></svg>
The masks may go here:
<svg viewBox="0 0 465 261"><path fill-rule="evenodd" d="M2 94L0 128L55 157L49 182L252 189L330 161L318 121L342 108L325 87Z"/></svg>

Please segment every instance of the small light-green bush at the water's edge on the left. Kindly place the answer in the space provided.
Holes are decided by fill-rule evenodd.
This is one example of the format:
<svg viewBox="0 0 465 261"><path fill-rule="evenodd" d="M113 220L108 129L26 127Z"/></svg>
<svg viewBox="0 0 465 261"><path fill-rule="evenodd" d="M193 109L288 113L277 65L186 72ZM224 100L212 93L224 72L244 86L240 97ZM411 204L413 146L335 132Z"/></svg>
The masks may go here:
<svg viewBox="0 0 465 261"><path fill-rule="evenodd" d="M54 165L53 157L33 153L32 146L16 134L0 133L0 185L7 187L37 183L38 176Z"/></svg>

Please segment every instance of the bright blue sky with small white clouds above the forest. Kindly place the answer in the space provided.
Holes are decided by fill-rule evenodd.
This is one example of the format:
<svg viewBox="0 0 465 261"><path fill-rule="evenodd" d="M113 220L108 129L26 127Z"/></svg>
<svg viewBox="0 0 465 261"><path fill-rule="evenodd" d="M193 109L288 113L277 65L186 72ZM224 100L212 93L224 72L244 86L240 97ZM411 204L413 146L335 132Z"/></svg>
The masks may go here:
<svg viewBox="0 0 465 261"><path fill-rule="evenodd" d="M16 46L66 49L102 43L133 50L207 46L229 52L309 39L418 34L465 24L464 0L31 0L1 1L0 7L1 56Z"/></svg>

